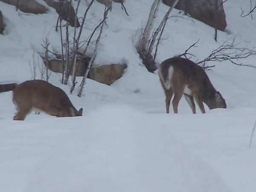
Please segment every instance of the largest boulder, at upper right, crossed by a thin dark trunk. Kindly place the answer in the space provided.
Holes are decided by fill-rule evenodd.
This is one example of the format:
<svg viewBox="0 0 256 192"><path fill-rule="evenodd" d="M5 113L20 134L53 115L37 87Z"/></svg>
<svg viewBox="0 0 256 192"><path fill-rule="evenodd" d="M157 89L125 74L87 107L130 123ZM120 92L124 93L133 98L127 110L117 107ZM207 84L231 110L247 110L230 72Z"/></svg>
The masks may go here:
<svg viewBox="0 0 256 192"><path fill-rule="evenodd" d="M163 0L168 6L172 5L173 0ZM227 22L222 0L218 0L217 10L217 29L224 31ZM191 15L191 17L206 23L209 26L214 27L215 22L215 0L179 0L176 9L184 10L185 13Z"/></svg>

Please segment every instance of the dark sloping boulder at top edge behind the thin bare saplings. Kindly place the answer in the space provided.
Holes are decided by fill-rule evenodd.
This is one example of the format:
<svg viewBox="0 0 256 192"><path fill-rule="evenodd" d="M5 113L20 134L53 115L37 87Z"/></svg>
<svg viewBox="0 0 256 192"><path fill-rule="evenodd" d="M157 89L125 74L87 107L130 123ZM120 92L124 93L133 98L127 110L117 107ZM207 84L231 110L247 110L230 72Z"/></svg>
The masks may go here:
<svg viewBox="0 0 256 192"><path fill-rule="evenodd" d="M62 4L59 0L44 0L48 6L53 7L63 20L70 23L70 26L79 27L80 23L76 17L75 10L70 1L63 0ZM75 19L76 18L76 19Z"/></svg>

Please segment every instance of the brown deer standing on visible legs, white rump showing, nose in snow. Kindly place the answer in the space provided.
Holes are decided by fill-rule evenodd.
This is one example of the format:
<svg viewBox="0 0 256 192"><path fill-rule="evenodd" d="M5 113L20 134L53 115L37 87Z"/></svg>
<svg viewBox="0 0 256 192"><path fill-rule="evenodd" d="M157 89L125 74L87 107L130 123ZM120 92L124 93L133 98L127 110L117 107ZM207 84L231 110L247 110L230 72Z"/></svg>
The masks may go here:
<svg viewBox="0 0 256 192"><path fill-rule="evenodd" d="M195 102L202 113L205 113L203 102L209 109L227 108L221 93L212 86L204 69L189 59L180 57L166 59L159 65L158 74L166 95L166 113L169 113L173 94L174 113L178 113L178 104L182 95L185 96L193 113L195 113Z"/></svg>

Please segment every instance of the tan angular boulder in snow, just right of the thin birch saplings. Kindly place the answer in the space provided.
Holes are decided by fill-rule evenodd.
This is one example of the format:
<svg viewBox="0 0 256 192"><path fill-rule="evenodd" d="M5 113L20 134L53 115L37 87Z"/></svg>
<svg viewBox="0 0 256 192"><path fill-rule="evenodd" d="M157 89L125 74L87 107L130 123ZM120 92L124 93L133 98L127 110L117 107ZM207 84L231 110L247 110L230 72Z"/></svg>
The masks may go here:
<svg viewBox="0 0 256 192"><path fill-rule="evenodd" d="M110 85L122 77L126 67L123 64L105 64L92 67L89 70L89 78Z"/></svg>

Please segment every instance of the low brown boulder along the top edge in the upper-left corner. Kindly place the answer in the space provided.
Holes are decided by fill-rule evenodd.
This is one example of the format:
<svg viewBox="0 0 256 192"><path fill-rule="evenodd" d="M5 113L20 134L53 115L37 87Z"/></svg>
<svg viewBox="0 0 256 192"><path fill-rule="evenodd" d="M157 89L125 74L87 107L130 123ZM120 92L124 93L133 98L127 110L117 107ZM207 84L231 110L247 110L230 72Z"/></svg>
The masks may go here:
<svg viewBox="0 0 256 192"><path fill-rule="evenodd" d="M36 0L0 0L4 3L15 5L20 11L25 13L46 13L46 7L38 3Z"/></svg>

